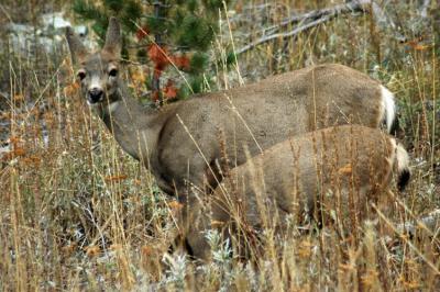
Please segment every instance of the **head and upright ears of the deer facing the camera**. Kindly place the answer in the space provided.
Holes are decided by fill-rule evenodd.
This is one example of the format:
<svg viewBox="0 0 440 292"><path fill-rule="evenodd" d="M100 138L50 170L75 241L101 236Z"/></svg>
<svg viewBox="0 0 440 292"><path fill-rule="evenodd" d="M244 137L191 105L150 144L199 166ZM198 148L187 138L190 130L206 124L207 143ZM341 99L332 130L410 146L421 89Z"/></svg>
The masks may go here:
<svg viewBox="0 0 440 292"><path fill-rule="evenodd" d="M77 77L81 82L87 103L97 105L118 101L121 57L121 32L118 20L110 18L106 44L100 52L88 53L70 27L67 27L66 38L73 63L78 67Z"/></svg>

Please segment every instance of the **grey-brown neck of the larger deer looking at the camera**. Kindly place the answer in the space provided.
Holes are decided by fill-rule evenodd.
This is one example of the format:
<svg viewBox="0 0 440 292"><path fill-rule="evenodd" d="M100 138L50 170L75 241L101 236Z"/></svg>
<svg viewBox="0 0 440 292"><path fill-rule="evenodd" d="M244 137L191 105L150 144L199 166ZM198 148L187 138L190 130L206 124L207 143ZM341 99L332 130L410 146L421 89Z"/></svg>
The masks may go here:
<svg viewBox="0 0 440 292"><path fill-rule="evenodd" d="M143 106L131 97L122 81L114 94L98 108L98 114L124 151L138 160L147 161L163 124L161 112Z"/></svg>

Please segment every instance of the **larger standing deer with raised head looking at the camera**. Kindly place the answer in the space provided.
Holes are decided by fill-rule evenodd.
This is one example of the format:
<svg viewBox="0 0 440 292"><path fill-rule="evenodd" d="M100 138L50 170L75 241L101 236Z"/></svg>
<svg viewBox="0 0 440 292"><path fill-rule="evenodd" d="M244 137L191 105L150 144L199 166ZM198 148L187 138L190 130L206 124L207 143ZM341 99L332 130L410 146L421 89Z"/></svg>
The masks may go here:
<svg viewBox="0 0 440 292"><path fill-rule="evenodd" d="M367 75L326 64L255 83L195 94L160 109L132 97L123 78L121 29L110 18L106 42L89 52L70 27L66 40L81 94L122 149L143 164L158 188L185 206L180 231L191 250L188 209L201 204L224 173L287 137L339 124L391 131L393 93ZM197 256L196 256L197 257Z"/></svg>

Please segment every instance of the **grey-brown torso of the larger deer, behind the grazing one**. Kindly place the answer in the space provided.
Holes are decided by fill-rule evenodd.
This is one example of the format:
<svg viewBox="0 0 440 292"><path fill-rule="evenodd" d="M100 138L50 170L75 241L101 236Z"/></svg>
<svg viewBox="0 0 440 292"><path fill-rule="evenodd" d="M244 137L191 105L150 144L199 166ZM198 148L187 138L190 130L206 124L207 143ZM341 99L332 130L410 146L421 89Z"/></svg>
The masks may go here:
<svg viewBox="0 0 440 292"><path fill-rule="evenodd" d="M306 68L201 94L172 105L157 143L157 162L175 171L172 177L189 173L190 181L200 183L205 176L216 186L219 173L211 173L215 166L228 169L243 164L244 147L254 156L289 136L316 128L348 123L380 127L382 98L378 82L339 65ZM224 160L227 166L221 162Z"/></svg>

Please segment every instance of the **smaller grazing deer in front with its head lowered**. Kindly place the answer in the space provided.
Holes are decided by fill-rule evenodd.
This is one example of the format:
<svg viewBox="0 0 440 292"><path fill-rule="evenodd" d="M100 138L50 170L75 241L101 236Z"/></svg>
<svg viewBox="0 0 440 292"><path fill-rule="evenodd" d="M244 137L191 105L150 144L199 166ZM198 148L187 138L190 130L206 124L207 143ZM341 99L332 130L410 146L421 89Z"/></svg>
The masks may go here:
<svg viewBox="0 0 440 292"><path fill-rule="evenodd" d="M369 204L389 188L393 173L398 189L406 187L408 161L402 145L376 128L341 125L298 135L232 169L211 195L211 222L242 243L246 236L239 233L287 231L292 215L299 225L316 218L353 234L352 225L373 213ZM202 231L210 228L210 221L197 218L201 226L193 248L206 259L209 246Z"/></svg>

